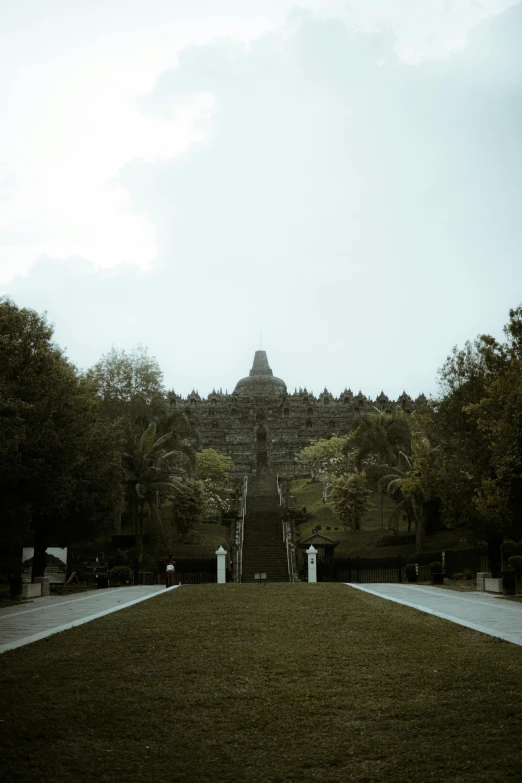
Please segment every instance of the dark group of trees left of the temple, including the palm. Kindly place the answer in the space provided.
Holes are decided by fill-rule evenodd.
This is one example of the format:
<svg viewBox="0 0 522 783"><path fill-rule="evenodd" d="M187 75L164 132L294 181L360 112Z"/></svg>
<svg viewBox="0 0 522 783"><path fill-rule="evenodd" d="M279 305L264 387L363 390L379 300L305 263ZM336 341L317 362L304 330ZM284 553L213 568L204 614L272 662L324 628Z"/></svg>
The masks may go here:
<svg viewBox="0 0 522 783"><path fill-rule="evenodd" d="M47 547L95 540L122 513L137 567L145 510L161 529L161 501L186 491L196 443L145 349L113 349L81 373L45 316L0 300L0 545L33 541L33 579Z"/></svg>

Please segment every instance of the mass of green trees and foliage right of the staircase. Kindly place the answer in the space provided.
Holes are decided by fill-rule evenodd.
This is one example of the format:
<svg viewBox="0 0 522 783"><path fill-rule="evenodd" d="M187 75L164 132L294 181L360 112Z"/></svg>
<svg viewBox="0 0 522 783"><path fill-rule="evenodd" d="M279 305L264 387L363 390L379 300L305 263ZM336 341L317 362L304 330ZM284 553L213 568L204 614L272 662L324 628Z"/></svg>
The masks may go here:
<svg viewBox="0 0 522 783"><path fill-rule="evenodd" d="M439 370L436 398L419 398L409 415L358 416L337 477L328 467L334 439L301 452L313 478L323 474L325 501L341 521L357 518L362 500L354 488L364 481L395 501L389 528L396 532L403 514L408 529L415 525L418 549L426 532L444 524L485 542L500 570L502 543L522 538L522 306L509 316L505 342L482 335L453 349Z"/></svg>

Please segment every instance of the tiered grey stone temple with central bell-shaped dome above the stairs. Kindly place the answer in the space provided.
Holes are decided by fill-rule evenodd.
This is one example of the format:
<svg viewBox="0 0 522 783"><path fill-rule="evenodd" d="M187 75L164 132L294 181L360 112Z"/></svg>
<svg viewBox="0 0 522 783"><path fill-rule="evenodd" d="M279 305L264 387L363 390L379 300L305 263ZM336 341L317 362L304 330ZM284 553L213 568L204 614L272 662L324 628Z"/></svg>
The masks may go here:
<svg viewBox="0 0 522 783"><path fill-rule="evenodd" d="M202 399L196 391L186 398L170 392L169 401L184 410L198 430L200 448L232 458L236 478L263 467L291 476L296 455L310 441L345 435L356 416L376 408L411 412L415 407L405 392L397 401L383 392L371 400L349 389L337 398L326 389L317 397L306 389L289 394L286 383L270 369L265 351L256 351L252 369L232 394L213 391Z"/></svg>

